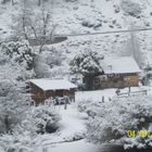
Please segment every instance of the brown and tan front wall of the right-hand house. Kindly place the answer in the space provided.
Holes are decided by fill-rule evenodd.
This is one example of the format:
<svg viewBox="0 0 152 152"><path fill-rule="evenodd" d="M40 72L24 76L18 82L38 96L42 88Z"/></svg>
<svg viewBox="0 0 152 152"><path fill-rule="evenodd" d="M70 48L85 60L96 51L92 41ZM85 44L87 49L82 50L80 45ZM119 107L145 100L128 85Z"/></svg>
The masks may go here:
<svg viewBox="0 0 152 152"><path fill-rule="evenodd" d="M137 87L139 84L138 74L104 75L93 79L94 89Z"/></svg>

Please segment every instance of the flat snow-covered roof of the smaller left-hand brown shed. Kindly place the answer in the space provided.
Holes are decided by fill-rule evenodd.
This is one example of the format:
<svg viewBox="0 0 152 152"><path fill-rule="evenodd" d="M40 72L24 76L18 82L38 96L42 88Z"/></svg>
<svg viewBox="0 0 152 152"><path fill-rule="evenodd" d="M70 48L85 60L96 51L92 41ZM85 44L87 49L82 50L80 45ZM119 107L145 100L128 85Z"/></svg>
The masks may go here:
<svg viewBox="0 0 152 152"><path fill-rule="evenodd" d="M65 79L30 79L30 83L35 84L42 90L69 90L72 88L77 88L76 85L69 83Z"/></svg>

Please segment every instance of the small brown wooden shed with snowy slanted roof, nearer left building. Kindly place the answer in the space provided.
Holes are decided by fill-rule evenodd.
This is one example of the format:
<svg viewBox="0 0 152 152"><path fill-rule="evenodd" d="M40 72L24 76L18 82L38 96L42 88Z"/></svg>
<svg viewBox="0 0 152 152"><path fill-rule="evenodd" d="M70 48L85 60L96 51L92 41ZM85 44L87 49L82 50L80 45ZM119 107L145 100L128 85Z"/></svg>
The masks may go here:
<svg viewBox="0 0 152 152"><path fill-rule="evenodd" d="M77 86L65 79L30 79L31 99L38 104L51 97L68 96L75 100Z"/></svg>

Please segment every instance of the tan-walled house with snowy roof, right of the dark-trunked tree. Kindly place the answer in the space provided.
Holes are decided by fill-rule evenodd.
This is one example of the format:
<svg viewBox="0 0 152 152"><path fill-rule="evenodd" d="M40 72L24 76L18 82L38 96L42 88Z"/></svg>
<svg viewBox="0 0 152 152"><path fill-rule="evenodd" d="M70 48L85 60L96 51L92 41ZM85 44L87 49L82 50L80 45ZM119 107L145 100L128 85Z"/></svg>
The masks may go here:
<svg viewBox="0 0 152 152"><path fill-rule="evenodd" d="M105 59L101 62L103 74L94 77L93 88L136 87L139 84L140 68L131 56Z"/></svg>

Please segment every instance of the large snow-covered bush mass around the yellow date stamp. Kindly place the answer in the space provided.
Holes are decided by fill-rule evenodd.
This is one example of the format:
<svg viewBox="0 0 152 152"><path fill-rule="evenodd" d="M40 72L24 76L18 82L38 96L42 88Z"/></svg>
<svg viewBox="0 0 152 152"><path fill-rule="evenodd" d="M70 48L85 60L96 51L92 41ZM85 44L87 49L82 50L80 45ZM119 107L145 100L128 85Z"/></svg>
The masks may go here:
<svg viewBox="0 0 152 152"><path fill-rule="evenodd" d="M151 138L139 140L127 137L128 130L149 130L152 123L152 97L136 96L129 98L113 99L111 102L101 103L94 118L87 123L87 137L92 142L106 142L119 140L127 147L151 147ZM128 145L129 148L129 145Z"/></svg>

